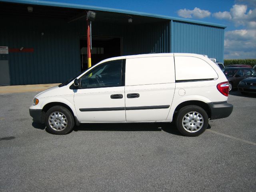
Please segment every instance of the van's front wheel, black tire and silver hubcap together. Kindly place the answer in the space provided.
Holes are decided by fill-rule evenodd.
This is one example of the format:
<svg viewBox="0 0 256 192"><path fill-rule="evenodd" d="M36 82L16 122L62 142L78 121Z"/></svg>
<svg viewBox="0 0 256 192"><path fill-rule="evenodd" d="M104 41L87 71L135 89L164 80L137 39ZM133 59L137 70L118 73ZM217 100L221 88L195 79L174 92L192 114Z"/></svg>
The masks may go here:
<svg viewBox="0 0 256 192"><path fill-rule="evenodd" d="M45 115L46 130L52 134L64 135L72 131L74 117L62 106L53 106Z"/></svg>

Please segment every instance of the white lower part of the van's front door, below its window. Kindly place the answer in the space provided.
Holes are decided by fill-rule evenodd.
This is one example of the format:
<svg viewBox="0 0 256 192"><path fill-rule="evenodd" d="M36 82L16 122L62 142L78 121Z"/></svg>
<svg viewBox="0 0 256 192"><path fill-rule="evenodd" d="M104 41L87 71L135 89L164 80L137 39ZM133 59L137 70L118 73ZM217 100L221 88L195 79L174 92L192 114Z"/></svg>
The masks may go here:
<svg viewBox="0 0 256 192"><path fill-rule="evenodd" d="M111 99L113 94L124 95L124 86L78 89L74 105L80 122L125 122L125 110L81 111L88 108L116 108L125 106L125 99Z"/></svg>

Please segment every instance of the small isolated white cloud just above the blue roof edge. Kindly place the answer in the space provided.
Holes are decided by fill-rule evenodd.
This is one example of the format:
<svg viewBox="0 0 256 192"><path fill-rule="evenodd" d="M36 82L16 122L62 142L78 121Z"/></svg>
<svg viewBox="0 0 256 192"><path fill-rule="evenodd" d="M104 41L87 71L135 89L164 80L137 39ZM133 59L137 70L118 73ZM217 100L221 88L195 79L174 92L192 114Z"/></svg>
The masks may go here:
<svg viewBox="0 0 256 192"><path fill-rule="evenodd" d="M180 9L178 10L178 16L183 18L205 18L210 16L211 13L208 10L202 10L200 8L195 7L193 10L190 9Z"/></svg>

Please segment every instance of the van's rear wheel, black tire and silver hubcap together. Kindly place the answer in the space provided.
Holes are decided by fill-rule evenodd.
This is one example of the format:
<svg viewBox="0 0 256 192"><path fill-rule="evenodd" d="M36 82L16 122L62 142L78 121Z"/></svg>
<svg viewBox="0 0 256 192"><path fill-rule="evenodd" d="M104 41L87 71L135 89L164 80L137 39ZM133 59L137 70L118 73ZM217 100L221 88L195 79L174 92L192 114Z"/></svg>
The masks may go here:
<svg viewBox="0 0 256 192"><path fill-rule="evenodd" d="M178 111L176 126L184 136L198 136L202 134L209 123L208 115L199 106L185 106Z"/></svg>

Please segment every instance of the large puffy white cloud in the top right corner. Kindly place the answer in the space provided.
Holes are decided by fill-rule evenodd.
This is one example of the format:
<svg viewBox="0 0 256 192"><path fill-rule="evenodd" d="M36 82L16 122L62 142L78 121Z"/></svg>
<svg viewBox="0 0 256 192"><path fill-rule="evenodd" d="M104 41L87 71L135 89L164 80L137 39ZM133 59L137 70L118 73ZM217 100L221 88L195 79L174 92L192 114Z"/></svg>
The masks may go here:
<svg viewBox="0 0 256 192"><path fill-rule="evenodd" d="M216 12L212 14L217 19L225 19L233 22L235 26L247 26L256 28L256 8L247 11L247 5L235 4L230 12Z"/></svg>

